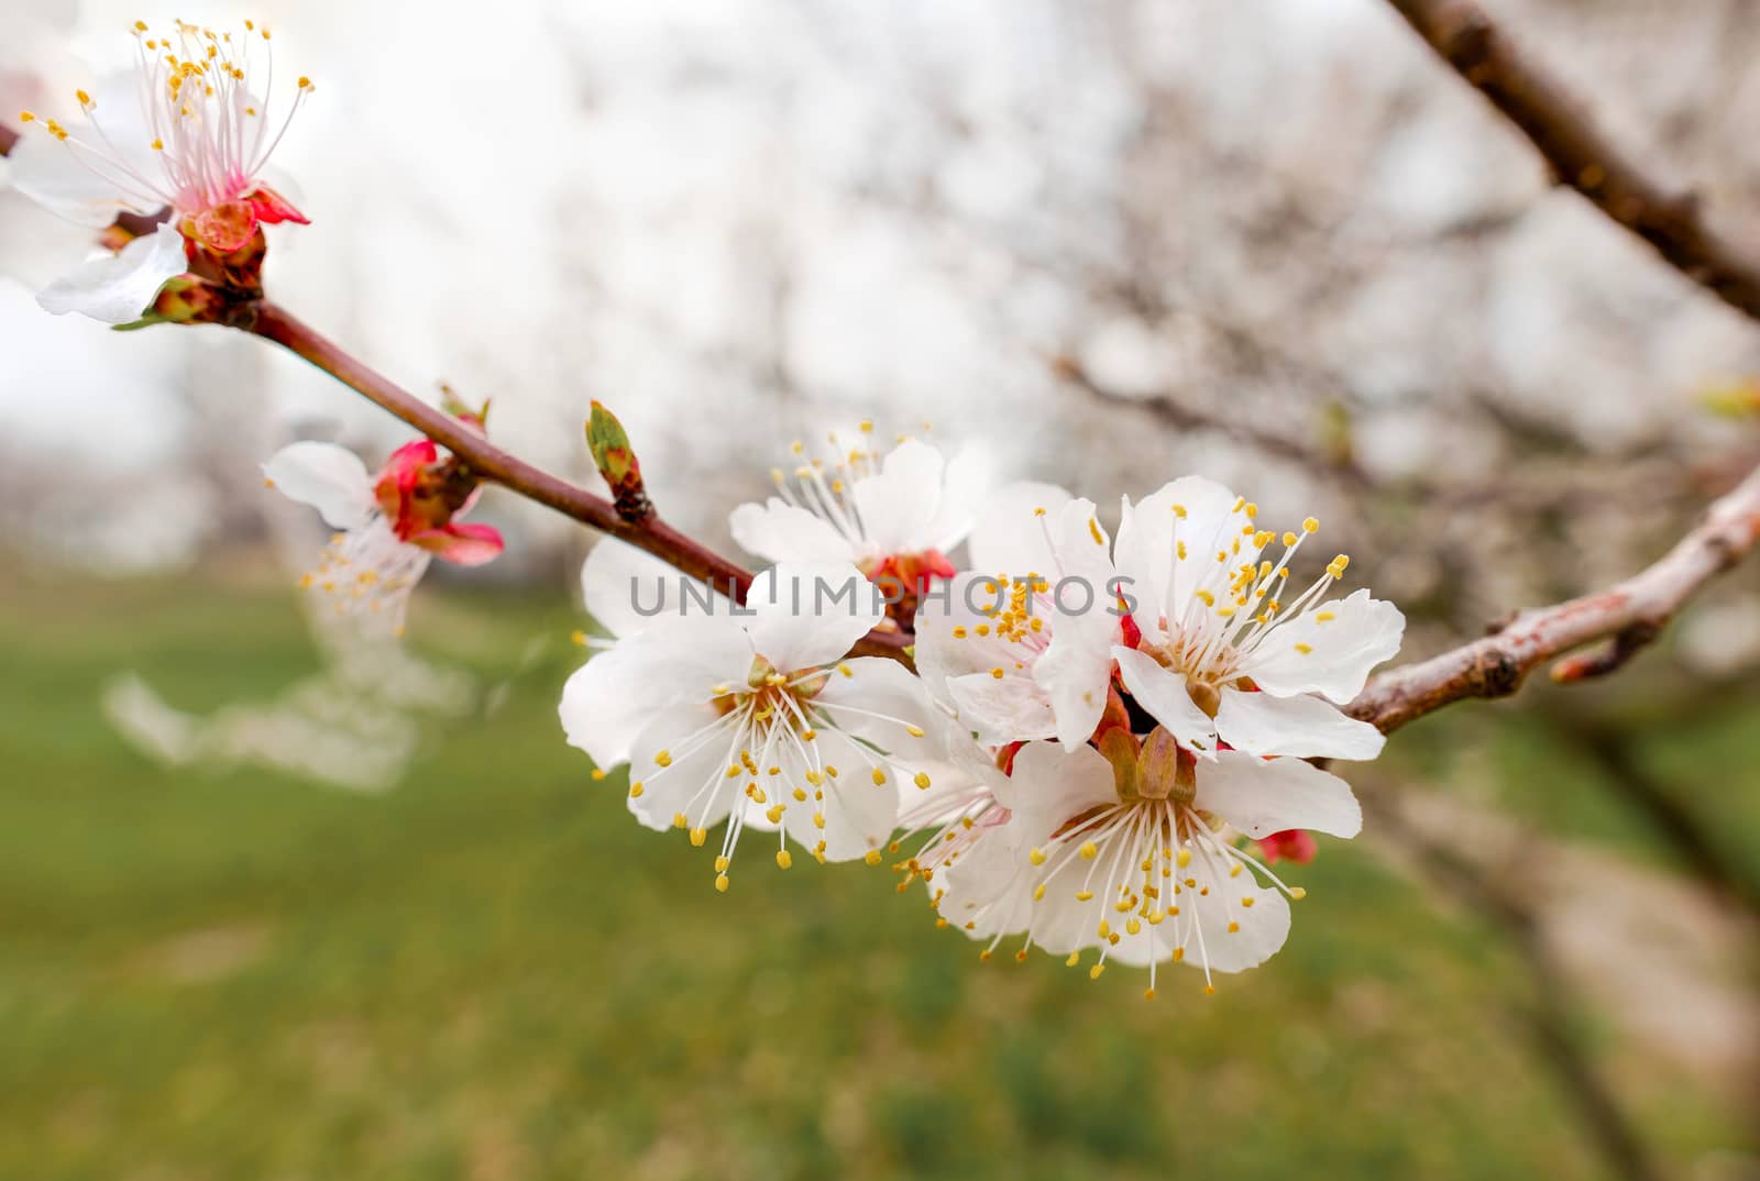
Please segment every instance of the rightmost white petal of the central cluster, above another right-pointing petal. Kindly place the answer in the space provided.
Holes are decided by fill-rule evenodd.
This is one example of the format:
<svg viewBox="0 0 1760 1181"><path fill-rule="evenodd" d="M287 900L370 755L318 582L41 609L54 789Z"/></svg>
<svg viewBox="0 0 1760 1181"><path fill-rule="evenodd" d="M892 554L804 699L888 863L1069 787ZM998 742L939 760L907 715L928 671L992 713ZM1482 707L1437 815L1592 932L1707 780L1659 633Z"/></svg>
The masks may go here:
<svg viewBox="0 0 1760 1181"><path fill-rule="evenodd" d="M1359 590L1267 628L1241 672L1278 697L1324 693L1345 704L1399 651L1404 632L1399 607Z"/></svg>

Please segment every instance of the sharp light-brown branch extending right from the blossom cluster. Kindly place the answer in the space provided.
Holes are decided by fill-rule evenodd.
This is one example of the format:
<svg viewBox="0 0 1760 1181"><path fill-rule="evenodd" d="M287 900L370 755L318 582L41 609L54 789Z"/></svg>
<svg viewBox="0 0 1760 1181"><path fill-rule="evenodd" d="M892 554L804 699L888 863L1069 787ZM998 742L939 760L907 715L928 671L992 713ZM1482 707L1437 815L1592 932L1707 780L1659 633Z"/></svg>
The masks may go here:
<svg viewBox="0 0 1760 1181"><path fill-rule="evenodd" d="M1610 671L1653 641L1668 618L1760 540L1760 468L1707 509L1704 521L1654 565L1607 590L1519 613L1491 635L1392 669L1346 706L1383 732L1466 697L1508 697L1540 664L1595 641L1617 657L1586 662ZM1573 672L1565 664L1565 676ZM1582 671L1577 669L1577 676Z"/></svg>

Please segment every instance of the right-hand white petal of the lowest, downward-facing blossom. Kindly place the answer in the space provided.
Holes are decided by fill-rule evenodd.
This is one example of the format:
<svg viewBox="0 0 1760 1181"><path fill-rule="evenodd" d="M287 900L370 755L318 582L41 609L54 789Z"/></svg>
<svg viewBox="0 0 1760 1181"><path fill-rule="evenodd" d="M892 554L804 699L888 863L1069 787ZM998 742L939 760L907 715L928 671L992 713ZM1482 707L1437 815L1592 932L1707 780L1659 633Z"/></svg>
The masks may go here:
<svg viewBox="0 0 1760 1181"><path fill-rule="evenodd" d="M1197 769L1195 804L1251 838L1285 829L1332 836L1362 831L1362 810L1350 785L1301 759L1260 759L1225 750Z"/></svg>

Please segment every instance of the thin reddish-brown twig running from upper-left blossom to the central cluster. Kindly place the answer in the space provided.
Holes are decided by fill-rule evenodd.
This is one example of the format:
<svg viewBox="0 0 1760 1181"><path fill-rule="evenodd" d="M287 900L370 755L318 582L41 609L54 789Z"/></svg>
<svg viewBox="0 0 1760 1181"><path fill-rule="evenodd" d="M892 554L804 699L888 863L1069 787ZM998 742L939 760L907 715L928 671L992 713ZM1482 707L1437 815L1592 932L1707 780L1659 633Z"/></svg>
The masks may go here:
<svg viewBox="0 0 1760 1181"><path fill-rule="evenodd" d="M326 340L275 303L262 301L253 304L253 312L255 315L248 319L248 324L243 324L246 331L304 357L343 385L403 419L463 459L477 477L493 480L526 500L554 509L602 533L611 533L655 554L683 574L702 579L716 590L725 590L732 598L744 602L746 591L752 586L752 572L679 533L656 514L641 519L623 517L612 502L502 451L452 415L429 407L415 394L356 361L336 343ZM855 646L855 655L903 660L908 642L910 637L898 632L871 632Z"/></svg>

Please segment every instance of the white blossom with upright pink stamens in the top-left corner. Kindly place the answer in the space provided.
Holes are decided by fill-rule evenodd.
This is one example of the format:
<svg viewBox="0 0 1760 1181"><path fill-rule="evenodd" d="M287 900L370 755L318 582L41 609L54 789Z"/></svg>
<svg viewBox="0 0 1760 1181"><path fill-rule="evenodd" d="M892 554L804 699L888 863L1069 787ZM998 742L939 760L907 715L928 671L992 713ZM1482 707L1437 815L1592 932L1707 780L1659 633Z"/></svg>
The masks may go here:
<svg viewBox="0 0 1760 1181"><path fill-rule="evenodd" d="M306 222L262 169L312 79L299 77L283 116L271 111L271 33L252 21L216 32L176 21L155 32L136 21L136 67L77 92L84 127L25 111L12 185L81 225L118 213L169 222L51 283L39 303L111 324L141 317L188 253L229 255L275 222Z"/></svg>

